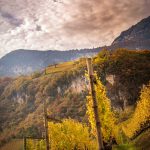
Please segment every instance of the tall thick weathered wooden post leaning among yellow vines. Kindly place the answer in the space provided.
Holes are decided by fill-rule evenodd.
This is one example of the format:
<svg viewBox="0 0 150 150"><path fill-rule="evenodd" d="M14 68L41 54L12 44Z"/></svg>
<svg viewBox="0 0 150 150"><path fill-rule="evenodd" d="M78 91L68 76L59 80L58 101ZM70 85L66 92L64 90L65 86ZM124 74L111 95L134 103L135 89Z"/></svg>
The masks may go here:
<svg viewBox="0 0 150 150"><path fill-rule="evenodd" d="M93 72L92 59L87 58L86 61L87 61L88 75L90 79L90 90L91 90L92 101L93 101L94 117L95 117L95 122L96 122L98 150L104 150L102 132L101 132L101 123L100 123L100 118L98 114L98 105L97 105L97 100L96 100L96 92L94 88L95 77L94 77L94 72Z"/></svg>

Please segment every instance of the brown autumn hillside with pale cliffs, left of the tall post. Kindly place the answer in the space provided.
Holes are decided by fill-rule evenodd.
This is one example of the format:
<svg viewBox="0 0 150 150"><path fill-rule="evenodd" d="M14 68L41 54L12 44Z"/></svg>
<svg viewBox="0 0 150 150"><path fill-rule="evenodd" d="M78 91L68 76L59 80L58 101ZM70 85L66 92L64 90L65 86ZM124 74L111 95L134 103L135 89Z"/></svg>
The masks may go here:
<svg viewBox="0 0 150 150"><path fill-rule="evenodd" d="M30 136L41 134L43 99L48 101L49 110L55 116L83 119L87 90L83 90L86 88L84 84L78 87L83 82L80 75L84 74L84 70L80 69L82 63L77 61L77 64L76 66L72 63L72 69L66 70L65 66L68 65L66 63L64 69L61 68L58 73L51 73L47 68L46 75L35 73L32 76L21 76L16 79L1 79L1 142L18 133L19 137L25 133ZM78 91L76 91L77 87Z"/></svg>

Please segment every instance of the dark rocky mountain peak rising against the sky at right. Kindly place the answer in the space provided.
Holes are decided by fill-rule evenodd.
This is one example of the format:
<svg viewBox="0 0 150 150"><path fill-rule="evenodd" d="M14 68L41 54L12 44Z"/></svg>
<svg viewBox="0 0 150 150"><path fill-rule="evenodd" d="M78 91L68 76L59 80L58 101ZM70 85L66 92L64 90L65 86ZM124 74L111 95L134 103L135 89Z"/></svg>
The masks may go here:
<svg viewBox="0 0 150 150"><path fill-rule="evenodd" d="M150 49L150 16L123 31L112 43L111 48Z"/></svg>

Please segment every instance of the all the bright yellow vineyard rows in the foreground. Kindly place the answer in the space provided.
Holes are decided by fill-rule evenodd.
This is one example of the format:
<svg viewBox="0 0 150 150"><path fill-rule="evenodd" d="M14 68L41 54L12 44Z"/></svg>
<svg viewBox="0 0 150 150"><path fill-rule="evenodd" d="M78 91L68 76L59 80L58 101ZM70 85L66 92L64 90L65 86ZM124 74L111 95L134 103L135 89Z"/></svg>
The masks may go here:
<svg viewBox="0 0 150 150"><path fill-rule="evenodd" d="M150 85L142 89L140 99L137 102L135 112L131 118L121 124L117 124L117 118L115 117L115 112L111 110L110 100L106 96L105 87L97 76L96 81L95 89L100 120L102 122L103 140L105 143L108 143L108 145L114 144L114 150L121 148L135 149L130 139L136 136L142 129L149 128L150 125ZM49 122L49 138L52 150L97 149L97 136L91 99L91 96L87 97L87 115L89 116L91 131L86 124L81 124L72 119L63 120L62 123ZM120 132L120 128L122 128L122 132ZM116 143L112 143L112 139L116 139ZM27 150L35 149L35 146L37 150L44 150L45 143L43 142L44 141L37 142L35 140L28 140ZM131 144L129 144L130 142ZM120 146L115 146L117 143L120 144Z"/></svg>

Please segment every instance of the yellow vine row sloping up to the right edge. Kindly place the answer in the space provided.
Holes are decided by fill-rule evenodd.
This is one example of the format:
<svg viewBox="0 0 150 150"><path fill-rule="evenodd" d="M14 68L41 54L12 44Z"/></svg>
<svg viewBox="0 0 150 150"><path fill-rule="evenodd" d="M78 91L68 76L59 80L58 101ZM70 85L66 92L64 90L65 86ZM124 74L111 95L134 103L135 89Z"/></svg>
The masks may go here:
<svg viewBox="0 0 150 150"><path fill-rule="evenodd" d="M150 83L145 86L132 118L122 126L124 133L132 138L137 132L150 125Z"/></svg>

